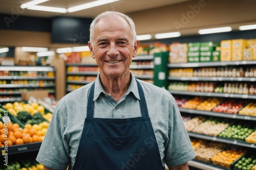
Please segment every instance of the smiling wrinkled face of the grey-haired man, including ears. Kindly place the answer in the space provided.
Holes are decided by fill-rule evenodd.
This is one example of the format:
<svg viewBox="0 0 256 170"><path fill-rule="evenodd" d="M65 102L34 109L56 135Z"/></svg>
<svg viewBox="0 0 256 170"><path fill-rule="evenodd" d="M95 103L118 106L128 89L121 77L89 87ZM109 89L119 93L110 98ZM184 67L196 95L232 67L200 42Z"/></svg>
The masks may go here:
<svg viewBox="0 0 256 170"><path fill-rule="evenodd" d="M97 22L93 36L93 46L89 42L89 47L101 74L107 78L122 77L128 72L130 75L130 64L139 42L133 44L129 24L120 17L102 18Z"/></svg>

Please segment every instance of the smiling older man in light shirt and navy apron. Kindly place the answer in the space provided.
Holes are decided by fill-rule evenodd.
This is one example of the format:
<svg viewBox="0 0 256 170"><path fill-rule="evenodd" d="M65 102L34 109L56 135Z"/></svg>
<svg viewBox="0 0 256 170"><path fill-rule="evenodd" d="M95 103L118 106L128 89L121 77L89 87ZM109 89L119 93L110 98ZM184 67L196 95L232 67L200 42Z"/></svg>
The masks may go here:
<svg viewBox="0 0 256 170"><path fill-rule="evenodd" d="M97 79L58 102L36 160L45 169L188 169L195 153L173 96L130 71L133 20L104 12L90 32Z"/></svg>

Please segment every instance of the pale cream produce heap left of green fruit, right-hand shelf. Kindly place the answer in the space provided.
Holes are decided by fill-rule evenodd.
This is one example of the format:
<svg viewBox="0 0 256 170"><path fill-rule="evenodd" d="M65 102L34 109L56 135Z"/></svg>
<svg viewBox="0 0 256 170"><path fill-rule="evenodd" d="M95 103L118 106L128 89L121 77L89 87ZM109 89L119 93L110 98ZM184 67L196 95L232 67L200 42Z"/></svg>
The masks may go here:
<svg viewBox="0 0 256 170"><path fill-rule="evenodd" d="M228 123L221 121L217 118L208 118L204 120L201 124L196 126L192 132L210 135L210 136L217 136L221 133L224 129L229 126Z"/></svg>

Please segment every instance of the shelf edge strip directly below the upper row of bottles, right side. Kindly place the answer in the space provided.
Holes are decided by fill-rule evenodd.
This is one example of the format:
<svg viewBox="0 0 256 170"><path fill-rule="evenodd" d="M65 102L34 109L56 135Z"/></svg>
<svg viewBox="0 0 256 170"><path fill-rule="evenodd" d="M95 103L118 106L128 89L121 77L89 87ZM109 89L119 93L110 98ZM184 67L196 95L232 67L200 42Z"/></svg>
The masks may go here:
<svg viewBox="0 0 256 170"><path fill-rule="evenodd" d="M168 77L168 80L175 81L244 81L255 82L254 77Z"/></svg>

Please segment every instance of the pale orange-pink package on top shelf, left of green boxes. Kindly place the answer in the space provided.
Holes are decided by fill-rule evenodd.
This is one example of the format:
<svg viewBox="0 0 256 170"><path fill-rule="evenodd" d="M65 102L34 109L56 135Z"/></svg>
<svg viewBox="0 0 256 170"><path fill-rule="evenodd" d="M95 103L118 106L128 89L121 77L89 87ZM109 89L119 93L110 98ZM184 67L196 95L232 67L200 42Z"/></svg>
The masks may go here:
<svg viewBox="0 0 256 170"><path fill-rule="evenodd" d="M169 62L186 63L187 62L187 43L170 44Z"/></svg>

